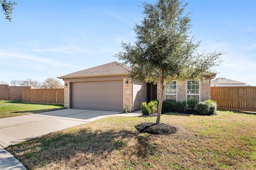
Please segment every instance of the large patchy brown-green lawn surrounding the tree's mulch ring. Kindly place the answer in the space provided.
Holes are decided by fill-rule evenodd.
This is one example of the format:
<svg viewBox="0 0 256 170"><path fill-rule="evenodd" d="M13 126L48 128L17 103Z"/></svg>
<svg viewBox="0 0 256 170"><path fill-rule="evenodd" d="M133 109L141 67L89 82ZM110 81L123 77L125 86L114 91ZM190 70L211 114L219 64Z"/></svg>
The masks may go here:
<svg viewBox="0 0 256 170"><path fill-rule="evenodd" d="M30 169L250 170L256 167L256 113L166 113L171 135L138 133L156 117L106 117L7 148Z"/></svg>

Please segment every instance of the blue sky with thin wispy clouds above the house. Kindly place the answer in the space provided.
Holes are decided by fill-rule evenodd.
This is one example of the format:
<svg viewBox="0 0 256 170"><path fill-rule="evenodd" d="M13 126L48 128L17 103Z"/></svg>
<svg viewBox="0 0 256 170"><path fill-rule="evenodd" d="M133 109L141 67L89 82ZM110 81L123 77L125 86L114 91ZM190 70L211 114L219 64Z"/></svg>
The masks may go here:
<svg viewBox="0 0 256 170"><path fill-rule="evenodd" d="M135 41L132 28L143 18L137 0L15 1L12 22L0 16L0 80L8 83L118 61L121 41ZM216 78L256 86L256 1L185 2L198 51L226 53Z"/></svg>

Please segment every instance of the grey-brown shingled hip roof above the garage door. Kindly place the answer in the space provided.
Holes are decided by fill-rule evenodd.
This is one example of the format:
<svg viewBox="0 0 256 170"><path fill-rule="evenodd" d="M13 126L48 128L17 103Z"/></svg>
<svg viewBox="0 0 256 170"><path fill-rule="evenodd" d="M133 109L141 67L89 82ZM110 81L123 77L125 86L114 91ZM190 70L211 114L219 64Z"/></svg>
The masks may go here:
<svg viewBox="0 0 256 170"><path fill-rule="evenodd" d="M73 72L57 78L79 78L79 77L92 77L92 76L111 76L111 75L126 75L130 71L130 67L118 63L116 61L100 66L88 68L78 72Z"/></svg>

